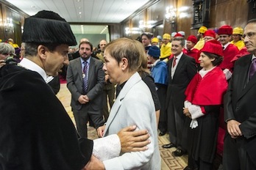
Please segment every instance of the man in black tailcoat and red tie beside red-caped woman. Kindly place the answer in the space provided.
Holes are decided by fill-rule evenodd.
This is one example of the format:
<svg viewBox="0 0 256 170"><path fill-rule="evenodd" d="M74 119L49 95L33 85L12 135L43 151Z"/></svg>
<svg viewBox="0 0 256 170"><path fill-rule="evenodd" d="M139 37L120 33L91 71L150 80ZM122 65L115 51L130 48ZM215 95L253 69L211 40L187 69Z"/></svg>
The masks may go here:
<svg viewBox="0 0 256 170"><path fill-rule="evenodd" d="M171 51L174 57L168 61L168 89L166 95L166 111L168 117L168 131L170 144L164 144L163 148L177 147L172 152L174 156L182 156L186 152L186 146L182 146L182 133L185 126L185 115L182 108L185 101L185 89L196 74L196 61L191 56L182 52L185 40L175 37L171 42Z"/></svg>

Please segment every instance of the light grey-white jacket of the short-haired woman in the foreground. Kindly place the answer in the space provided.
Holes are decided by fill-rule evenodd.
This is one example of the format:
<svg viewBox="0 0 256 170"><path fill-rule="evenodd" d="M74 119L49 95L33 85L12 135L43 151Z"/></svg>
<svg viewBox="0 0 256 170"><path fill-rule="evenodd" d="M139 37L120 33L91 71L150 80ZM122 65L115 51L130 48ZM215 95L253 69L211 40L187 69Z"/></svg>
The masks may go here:
<svg viewBox="0 0 256 170"><path fill-rule="evenodd" d="M104 136L118 133L124 127L137 125L146 129L151 143L144 152L121 153L117 158L104 161L107 169L161 169L160 152L157 141L157 123L149 87L141 80L138 73L132 75L115 100L107 119Z"/></svg>

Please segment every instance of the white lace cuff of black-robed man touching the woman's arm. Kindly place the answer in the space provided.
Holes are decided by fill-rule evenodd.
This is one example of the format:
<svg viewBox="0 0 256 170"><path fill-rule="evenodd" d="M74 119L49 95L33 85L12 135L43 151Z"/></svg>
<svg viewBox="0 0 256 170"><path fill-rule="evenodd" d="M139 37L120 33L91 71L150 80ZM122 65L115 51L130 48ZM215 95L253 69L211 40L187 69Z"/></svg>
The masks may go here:
<svg viewBox="0 0 256 170"><path fill-rule="evenodd" d="M116 134L93 140L93 155L99 160L108 160L120 155L121 144Z"/></svg>

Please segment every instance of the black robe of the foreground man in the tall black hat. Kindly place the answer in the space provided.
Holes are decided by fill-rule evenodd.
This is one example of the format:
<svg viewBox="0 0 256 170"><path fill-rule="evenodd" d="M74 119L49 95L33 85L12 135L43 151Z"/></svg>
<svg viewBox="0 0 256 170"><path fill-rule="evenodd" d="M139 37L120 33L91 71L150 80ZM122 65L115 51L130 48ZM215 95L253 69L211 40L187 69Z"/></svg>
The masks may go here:
<svg viewBox="0 0 256 170"><path fill-rule="evenodd" d="M18 66L0 70L0 167L82 169L93 141L78 139L60 100L36 72Z"/></svg>

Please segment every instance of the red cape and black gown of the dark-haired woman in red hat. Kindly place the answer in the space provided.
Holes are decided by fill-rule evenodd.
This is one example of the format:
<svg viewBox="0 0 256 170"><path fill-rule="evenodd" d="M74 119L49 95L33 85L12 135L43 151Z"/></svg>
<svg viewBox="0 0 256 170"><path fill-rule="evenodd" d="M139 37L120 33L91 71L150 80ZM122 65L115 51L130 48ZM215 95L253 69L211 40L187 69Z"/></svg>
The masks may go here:
<svg viewBox="0 0 256 170"><path fill-rule="evenodd" d="M186 100L201 106L205 112L205 116L196 119L198 127L188 127L188 154L194 160L213 163L218 138L218 115L226 91L227 81L220 67L213 68L203 78L197 73L188 84Z"/></svg>

